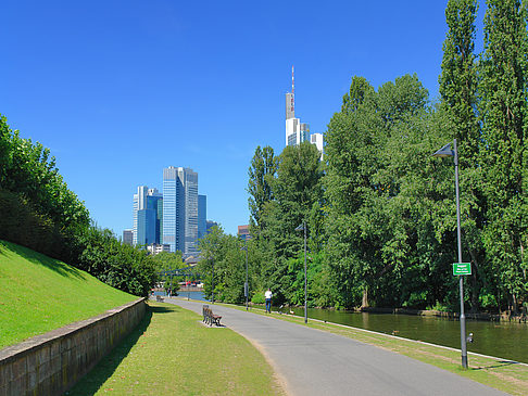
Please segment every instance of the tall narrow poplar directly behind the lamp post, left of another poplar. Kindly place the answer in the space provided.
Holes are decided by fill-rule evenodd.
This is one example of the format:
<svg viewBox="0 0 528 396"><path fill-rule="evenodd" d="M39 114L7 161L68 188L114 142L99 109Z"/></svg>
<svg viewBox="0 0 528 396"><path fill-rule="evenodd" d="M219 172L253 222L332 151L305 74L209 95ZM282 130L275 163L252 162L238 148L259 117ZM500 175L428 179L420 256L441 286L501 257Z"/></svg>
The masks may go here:
<svg viewBox="0 0 528 396"><path fill-rule="evenodd" d="M477 118L478 74L474 53L476 12L476 0L449 0L445 9L448 33L443 42L442 74L439 78L442 110L452 120L452 138L457 139L458 143L462 208L464 214L468 215L463 217L463 246L469 251L474 265L474 307L478 305L480 283L487 284L486 270L480 266L483 256L480 232L483 214L480 167L477 158L480 128ZM478 282L477 277L482 282Z"/></svg>

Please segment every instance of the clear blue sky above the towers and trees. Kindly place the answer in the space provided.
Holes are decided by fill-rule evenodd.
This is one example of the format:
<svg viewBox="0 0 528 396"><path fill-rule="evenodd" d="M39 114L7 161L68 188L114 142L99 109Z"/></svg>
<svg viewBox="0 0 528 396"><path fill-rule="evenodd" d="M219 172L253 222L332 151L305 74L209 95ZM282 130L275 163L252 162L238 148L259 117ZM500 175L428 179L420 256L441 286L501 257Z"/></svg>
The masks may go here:
<svg viewBox="0 0 528 396"><path fill-rule="evenodd" d="M354 75L377 88L416 73L436 100L445 4L3 0L0 114L51 149L100 227L131 228L137 186L161 190L173 165L198 171L208 219L236 233L255 148L284 149L291 66L312 132Z"/></svg>

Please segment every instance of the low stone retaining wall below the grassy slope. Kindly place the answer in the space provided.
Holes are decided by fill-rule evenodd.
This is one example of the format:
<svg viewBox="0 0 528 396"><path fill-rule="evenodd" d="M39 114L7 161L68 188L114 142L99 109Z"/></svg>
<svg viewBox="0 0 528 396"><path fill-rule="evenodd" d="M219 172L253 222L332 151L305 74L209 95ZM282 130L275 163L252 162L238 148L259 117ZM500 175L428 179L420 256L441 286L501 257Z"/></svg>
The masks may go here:
<svg viewBox="0 0 528 396"><path fill-rule="evenodd" d="M1 349L0 396L62 395L134 330L144 312L140 298Z"/></svg>

